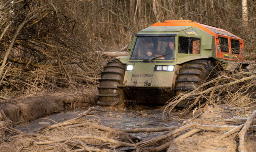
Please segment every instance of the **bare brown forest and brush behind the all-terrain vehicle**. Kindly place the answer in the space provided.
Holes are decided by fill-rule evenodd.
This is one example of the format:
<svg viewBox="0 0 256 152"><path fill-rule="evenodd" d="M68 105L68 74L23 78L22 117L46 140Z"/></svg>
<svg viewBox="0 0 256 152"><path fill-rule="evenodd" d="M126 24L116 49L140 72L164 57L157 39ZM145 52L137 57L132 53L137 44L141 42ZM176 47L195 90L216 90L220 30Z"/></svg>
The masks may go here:
<svg viewBox="0 0 256 152"><path fill-rule="evenodd" d="M244 39L256 54L255 0L1 0L0 98L98 84L104 64L140 30L194 20ZM124 50L128 51L128 50Z"/></svg>

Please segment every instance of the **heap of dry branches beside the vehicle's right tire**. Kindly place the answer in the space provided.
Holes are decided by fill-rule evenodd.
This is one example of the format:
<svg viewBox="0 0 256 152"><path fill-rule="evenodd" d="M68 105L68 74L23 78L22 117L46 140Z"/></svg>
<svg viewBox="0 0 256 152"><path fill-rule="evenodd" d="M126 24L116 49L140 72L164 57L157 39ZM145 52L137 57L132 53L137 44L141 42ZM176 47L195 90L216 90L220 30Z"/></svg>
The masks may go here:
<svg viewBox="0 0 256 152"><path fill-rule="evenodd" d="M248 72L254 68L252 66L246 70L247 72L219 72L220 76L218 78L205 82L195 90L180 94L169 100L168 104L164 106L164 112L167 112L167 116L169 116L170 112L179 103L188 104L187 108L180 112L180 118L189 110L198 106L200 113L194 117L197 118L206 110L209 104L221 105L225 110L241 109L244 112L254 110L256 108L256 72Z"/></svg>

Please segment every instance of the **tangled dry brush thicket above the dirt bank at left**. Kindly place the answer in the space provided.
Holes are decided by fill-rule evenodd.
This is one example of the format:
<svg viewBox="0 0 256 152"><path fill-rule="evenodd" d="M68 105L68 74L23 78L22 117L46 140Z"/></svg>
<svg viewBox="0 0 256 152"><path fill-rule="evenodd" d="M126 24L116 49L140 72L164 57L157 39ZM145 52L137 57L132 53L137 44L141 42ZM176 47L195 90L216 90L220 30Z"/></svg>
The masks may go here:
<svg viewBox="0 0 256 152"><path fill-rule="evenodd" d="M83 4L83 5L82 5ZM41 91L96 84L104 60L84 35L86 2L0 2L0 89ZM72 10L80 9L80 12ZM86 31L84 31L86 30Z"/></svg>

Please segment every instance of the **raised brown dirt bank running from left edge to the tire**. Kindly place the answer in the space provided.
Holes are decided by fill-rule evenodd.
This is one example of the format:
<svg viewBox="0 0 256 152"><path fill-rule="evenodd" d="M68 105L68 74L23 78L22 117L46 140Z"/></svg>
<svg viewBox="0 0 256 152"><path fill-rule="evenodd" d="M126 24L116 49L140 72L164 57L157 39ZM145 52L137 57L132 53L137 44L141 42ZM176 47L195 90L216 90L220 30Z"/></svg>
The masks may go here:
<svg viewBox="0 0 256 152"><path fill-rule="evenodd" d="M75 90L42 92L32 96L14 97L0 102L0 108L13 122L30 122L69 108L88 107L96 104L96 86ZM88 91L89 90L89 91Z"/></svg>

